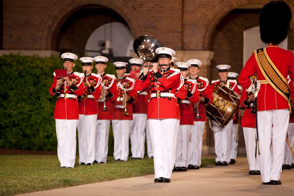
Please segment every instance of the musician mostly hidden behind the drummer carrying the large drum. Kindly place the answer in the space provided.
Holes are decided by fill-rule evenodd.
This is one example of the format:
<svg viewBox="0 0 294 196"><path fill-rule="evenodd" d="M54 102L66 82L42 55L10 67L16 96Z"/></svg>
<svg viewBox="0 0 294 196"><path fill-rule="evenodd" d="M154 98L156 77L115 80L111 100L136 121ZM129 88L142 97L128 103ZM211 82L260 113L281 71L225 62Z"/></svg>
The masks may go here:
<svg viewBox="0 0 294 196"><path fill-rule="evenodd" d="M228 80L234 80L236 83L236 78L239 76L238 73L235 73L235 72L229 72L228 73ZM239 94L241 95L241 86L237 84L237 87L238 87L238 90L239 90ZM232 125L232 140L231 140L231 143L232 143L232 148L231 148L231 153L230 153L230 164L235 164L235 160L236 160L236 157L237 157L237 147L238 147L238 141L236 141L236 138L237 138L237 129L238 129L238 122L239 122L239 118L240 118L240 115L239 115L239 110L241 108L239 107L237 109L237 112L235 114L235 119L233 119L233 125ZM241 120L241 119L240 119Z"/></svg>

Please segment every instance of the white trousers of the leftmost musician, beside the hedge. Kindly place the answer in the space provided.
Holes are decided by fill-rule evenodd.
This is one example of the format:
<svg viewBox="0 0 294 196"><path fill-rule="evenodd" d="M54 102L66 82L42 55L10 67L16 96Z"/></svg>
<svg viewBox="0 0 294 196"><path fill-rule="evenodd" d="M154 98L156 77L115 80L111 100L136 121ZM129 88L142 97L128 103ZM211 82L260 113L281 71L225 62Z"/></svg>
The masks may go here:
<svg viewBox="0 0 294 196"><path fill-rule="evenodd" d="M76 126L78 120L55 119L57 155L60 167L74 167L76 161Z"/></svg>

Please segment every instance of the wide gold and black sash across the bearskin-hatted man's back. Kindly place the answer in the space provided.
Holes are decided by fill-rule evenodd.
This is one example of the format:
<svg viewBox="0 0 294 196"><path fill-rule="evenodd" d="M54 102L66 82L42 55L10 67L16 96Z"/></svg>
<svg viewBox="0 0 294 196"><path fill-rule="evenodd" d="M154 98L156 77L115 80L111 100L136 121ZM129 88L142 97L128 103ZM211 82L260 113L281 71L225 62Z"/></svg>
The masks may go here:
<svg viewBox="0 0 294 196"><path fill-rule="evenodd" d="M275 64L270 60L266 48L255 50L254 56L262 75L265 77L266 81L268 81L270 86L287 100L291 112L290 88L288 82Z"/></svg>

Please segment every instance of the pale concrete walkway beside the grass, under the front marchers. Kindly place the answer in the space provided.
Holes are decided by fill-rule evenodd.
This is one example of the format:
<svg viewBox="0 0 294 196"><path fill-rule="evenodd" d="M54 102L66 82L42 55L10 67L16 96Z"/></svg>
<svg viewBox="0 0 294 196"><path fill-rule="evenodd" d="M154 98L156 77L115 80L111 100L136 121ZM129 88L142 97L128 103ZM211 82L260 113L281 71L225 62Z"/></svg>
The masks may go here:
<svg viewBox="0 0 294 196"><path fill-rule="evenodd" d="M171 183L148 175L24 195L294 195L294 169L282 172L282 185L262 185L248 170L247 159L237 158L235 165L173 172Z"/></svg>

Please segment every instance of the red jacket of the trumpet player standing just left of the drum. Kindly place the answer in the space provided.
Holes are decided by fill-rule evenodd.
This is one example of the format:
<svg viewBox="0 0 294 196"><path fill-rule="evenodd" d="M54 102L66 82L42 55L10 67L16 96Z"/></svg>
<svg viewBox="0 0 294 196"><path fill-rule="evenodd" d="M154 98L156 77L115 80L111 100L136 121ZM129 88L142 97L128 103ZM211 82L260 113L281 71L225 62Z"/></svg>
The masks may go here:
<svg viewBox="0 0 294 196"><path fill-rule="evenodd" d="M209 81L207 78L203 78L200 76L196 78L190 77L190 79L197 80L199 96L204 97L204 102L201 101L198 104L198 112L199 112L199 115L201 116L201 119L196 119L197 113L194 112L194 121L206 121L205 107L206 105L211 104L213 102L211 86L209 85ZM194 105L195 105L195 102L193 102L193 107Z"/></svg>

